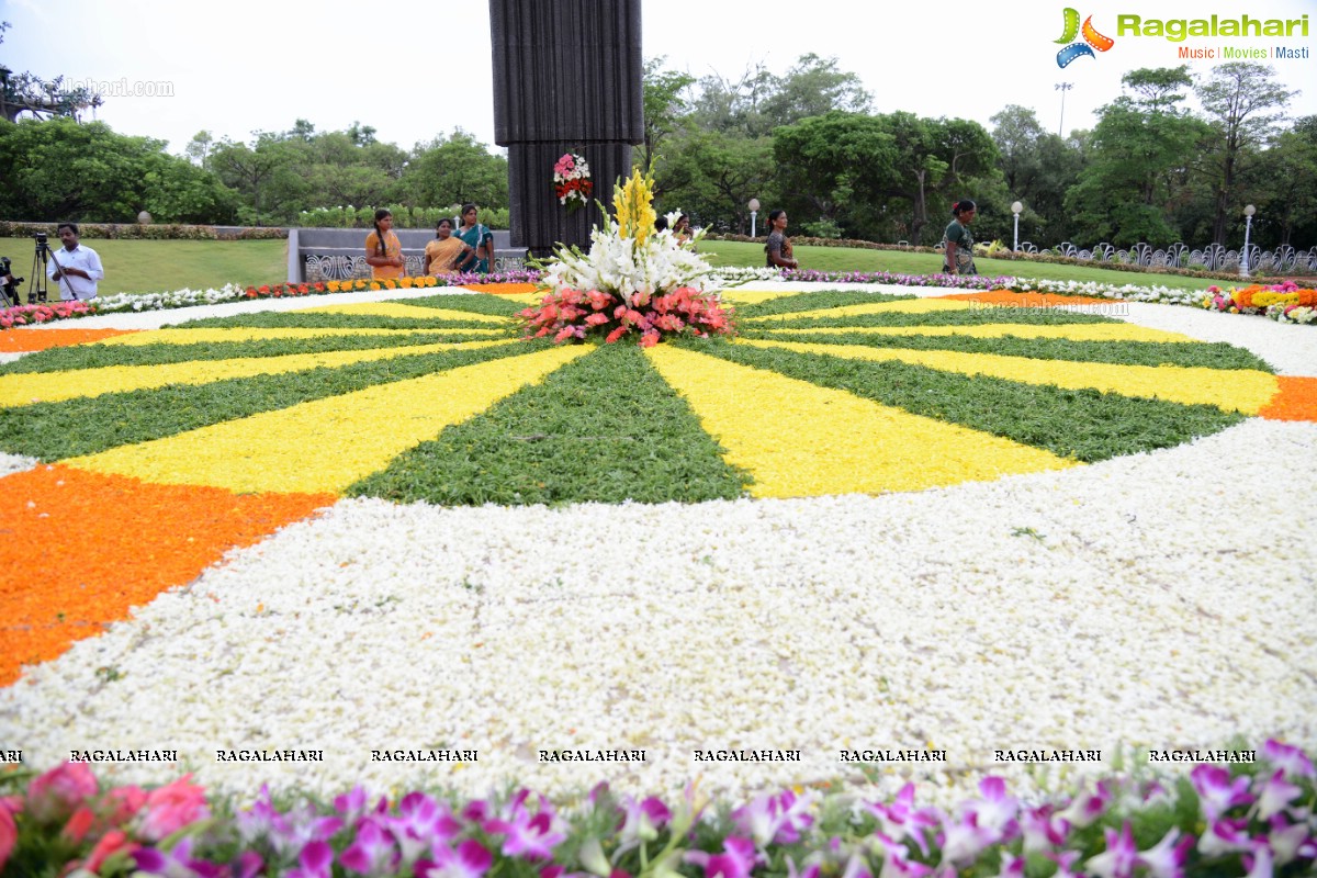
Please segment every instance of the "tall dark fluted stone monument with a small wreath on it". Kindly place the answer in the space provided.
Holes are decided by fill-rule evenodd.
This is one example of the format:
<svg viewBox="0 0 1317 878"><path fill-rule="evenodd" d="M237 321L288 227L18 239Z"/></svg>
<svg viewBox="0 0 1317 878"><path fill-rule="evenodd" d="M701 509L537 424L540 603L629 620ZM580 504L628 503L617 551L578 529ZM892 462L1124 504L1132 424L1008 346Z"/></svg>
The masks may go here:
<svg viewBox="0 0 1317 878"><path fill-rule="evenodd" d="M490 0L494 142L507 147L512 246L547 257L554 244L585 247L601 220L593 200L568 213L553 165L578 153L591 199L612 203L644 140L640 0Z"/></svg>

